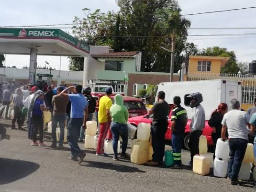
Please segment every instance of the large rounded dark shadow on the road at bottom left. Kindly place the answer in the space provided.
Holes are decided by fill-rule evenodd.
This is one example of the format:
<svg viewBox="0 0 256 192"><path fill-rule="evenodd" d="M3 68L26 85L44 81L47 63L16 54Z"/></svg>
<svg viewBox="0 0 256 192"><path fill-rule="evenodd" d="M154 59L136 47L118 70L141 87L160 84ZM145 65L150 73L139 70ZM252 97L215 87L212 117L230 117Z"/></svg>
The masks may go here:
<svg viewBox="0 0 256 192"><path fill-rule="evenodd" d="M29 161L0 158L0 185L27 177L39 167L39 164Z"/></svg>

